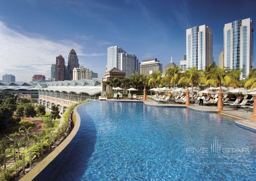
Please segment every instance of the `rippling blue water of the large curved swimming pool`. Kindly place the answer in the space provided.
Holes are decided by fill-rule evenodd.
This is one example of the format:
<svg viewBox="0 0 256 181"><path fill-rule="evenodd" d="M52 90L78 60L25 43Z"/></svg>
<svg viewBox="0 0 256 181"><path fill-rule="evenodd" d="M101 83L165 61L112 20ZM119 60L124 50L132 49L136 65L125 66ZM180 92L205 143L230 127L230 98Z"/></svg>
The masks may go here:
<svg viewBox="0 0 256 181"><path fill-rule="evenodd" d="M96 101L34 180L256 180L256 133L217 114Z"/></svg>

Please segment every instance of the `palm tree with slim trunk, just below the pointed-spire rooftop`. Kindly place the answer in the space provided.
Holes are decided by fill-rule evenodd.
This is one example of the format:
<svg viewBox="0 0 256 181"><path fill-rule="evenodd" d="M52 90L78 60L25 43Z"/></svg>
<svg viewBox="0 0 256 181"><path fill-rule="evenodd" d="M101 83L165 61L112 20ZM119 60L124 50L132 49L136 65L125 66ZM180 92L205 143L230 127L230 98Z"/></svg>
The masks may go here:
<svg viewBox="0 0 256 181"><path fill-rule="evenodd" d="M180 68L176 65L176 67L170 67L166 72L165 76L162 78L162 81L169 82L171 85L174 86L174 89L176 88L176 84L178 83L181 75ZM175 91L174 91L174 97L175 97Z"/></svg>

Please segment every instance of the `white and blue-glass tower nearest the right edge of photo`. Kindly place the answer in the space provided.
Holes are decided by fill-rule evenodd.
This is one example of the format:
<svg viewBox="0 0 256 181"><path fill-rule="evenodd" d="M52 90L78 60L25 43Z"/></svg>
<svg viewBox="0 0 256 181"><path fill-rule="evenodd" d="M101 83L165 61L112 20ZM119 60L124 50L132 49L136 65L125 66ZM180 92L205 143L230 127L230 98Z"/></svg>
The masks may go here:
<svg viewBox="0 0 256 181"><path fill-rule="evenodd" d="M224 67L242 69L245 78L253 66L253 22L250 18L224 25Z"/></svg>

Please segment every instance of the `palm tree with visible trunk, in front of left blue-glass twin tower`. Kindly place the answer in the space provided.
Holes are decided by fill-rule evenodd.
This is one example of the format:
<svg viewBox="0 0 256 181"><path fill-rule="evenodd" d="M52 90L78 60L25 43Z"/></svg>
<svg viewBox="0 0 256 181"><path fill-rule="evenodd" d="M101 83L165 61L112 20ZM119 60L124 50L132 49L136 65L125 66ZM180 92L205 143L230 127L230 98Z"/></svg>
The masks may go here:
<svg viewBox="0 0 256 181"><path fill-rule="evenodd" d="M200 83L204 83L204 82L205 82L205 78L203 77L203 71L197 70L197 67L191 67L182 73L178 83L179 84L185 83L185 84L191 85L192 87L191 103L193 104L193 94L194 94L193 87L195 85L198 86Z"/></svg>

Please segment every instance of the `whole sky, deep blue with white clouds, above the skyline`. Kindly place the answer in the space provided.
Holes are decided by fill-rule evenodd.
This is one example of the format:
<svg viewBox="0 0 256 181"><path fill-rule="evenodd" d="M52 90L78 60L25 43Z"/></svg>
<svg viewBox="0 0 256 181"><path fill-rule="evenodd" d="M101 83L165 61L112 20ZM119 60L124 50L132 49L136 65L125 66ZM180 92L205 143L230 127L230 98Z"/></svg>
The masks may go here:
<svg viewBox="0 0 256 181"><path fill-rule="evenodd" d="M55 57L61 53L67 64L72 48L80 65L99 77L111 45L136 54L139 61L157 58L165 66L172 56L179 65L186 53L186 29L202 24L213 29L217 61L224 24L245 18L256 21L253 0L0 1L0 74L14 74L17 81L30 81L33 74L50 77Z"/></svg>

